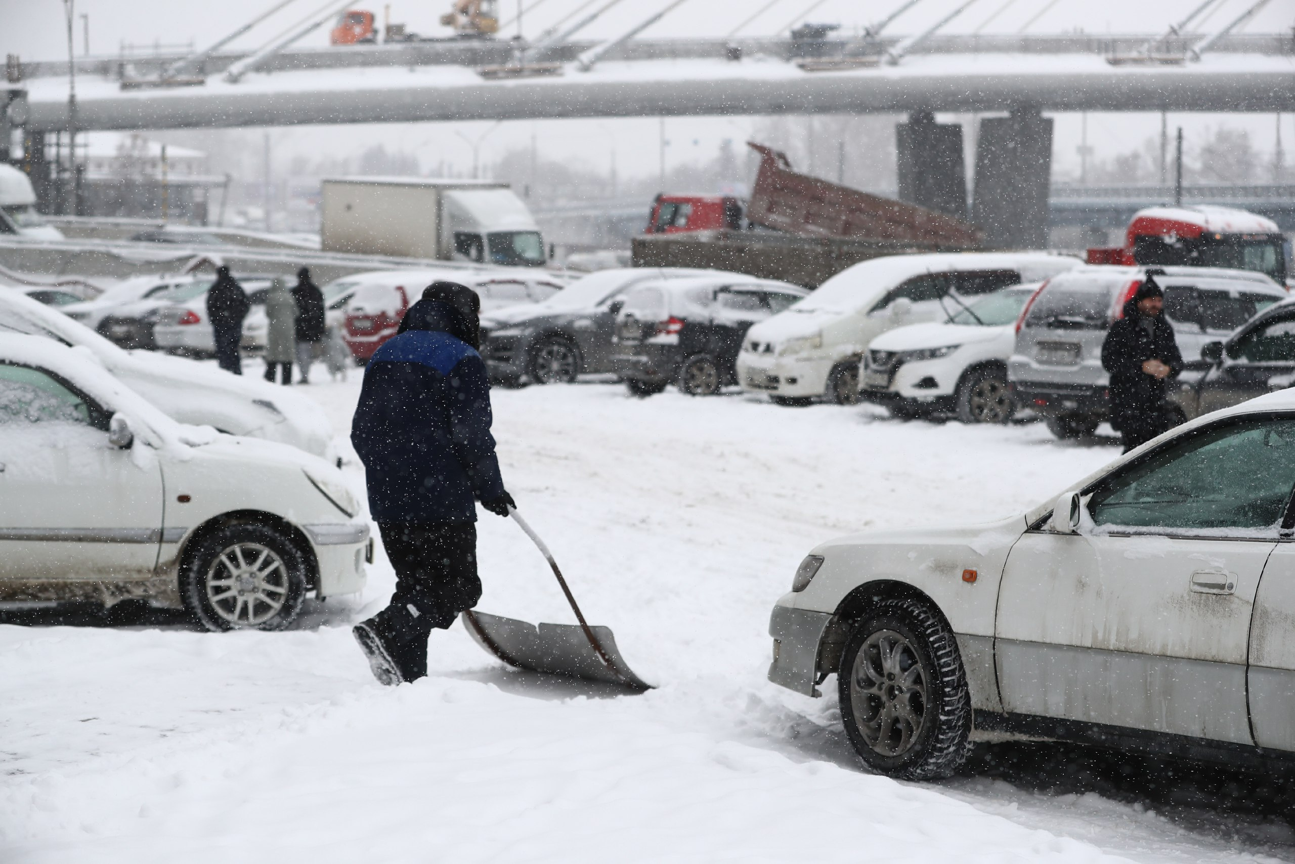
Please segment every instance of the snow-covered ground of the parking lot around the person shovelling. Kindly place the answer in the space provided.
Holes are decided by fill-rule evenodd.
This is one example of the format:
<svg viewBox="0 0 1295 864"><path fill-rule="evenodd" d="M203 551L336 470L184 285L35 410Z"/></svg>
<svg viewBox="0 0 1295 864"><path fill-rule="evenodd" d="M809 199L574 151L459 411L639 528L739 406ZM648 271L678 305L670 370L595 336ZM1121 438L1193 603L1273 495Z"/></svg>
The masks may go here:
<svg viewBox="0 0 1295 864"><path fill-rule="evenodd" d="M308 392L346 430L359 374ZM158 613L0 624L0 861L1295 856L1255 802L1267 784L1054 745L897 784L852 758L833 688L764 680L771 605L816 541L1020 510L1114 442L610 383L496 390L495 407L519 508L659 689L505 671L458 626L433 636L426 680L381 688L348 632L390 593L381 553L363 598L311 602L286 633ZM482 514L479 532L482 610L571 620L515 526Z"/></svg>

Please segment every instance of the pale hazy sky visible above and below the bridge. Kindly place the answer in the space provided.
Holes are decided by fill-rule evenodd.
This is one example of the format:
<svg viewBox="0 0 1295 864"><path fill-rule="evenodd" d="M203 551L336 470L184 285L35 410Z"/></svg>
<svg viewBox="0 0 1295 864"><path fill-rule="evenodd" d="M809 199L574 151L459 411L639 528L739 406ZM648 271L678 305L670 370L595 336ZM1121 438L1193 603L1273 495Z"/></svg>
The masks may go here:
<svg viewBox="0 0 1295 864"><path fill-rule="evenodd" d="M571 13L585 0L526 0L534 10L523 17L526 34L535 35L545 26ZM633 21L646 17L668 0L625 0L584 34L589 38L611 35ZM706 35L724 36L754 14L769 0L716 3L692 0L648 30L645 36ZM768 35L805 19L840 23L851 31L884 17L901 0L776 0L741 35ZM952 10L962 0L923 0L891 26L896 34L913 32ZM979 0L961 18L948 25L949 32L1017 32L1030 23L1030 32L1158 32L1185 14L1197 0ZM1224 0L1206 28L1221 26L1239 14L1252 0ZM88 21L92 54L115 56L123 43L152 45L189 43L210 44L243 22L273 5L273 0L75 0L75 51L82 54L84 23ZM243 36L236 45L258 47L282 28L317 8L324 0L295 0L284 12ZM356 0L355 8L382 13L390 6L391 21L404 22L409 30L423 35L443 34L436 19L451 0L392 0L378 3ZM501 18L515 14L517 0L500 0ZM87 16L85 21L82 16ZM0 48L23 60L66 57L66 28L62 0L0 0ZM1246 32L1290 34L1295 26L1295 0L1272 0L1246 27ZM515 32L509 27L505 35ZM326 27L302 40L303 45L324 45ZM1200 133L1207 126L1229 123L1251 131L1261 150L1272 150L1274 118L1272 115L1173 115L1171 124L1184 124L1189 135ZM300 127L276 131L276 152L289 158L294 152L350 155L382 141L388 149L416 152L422 163L435 165L449 159L460 167L471 165L471 146L464 136L475 139L490 128L488 123L420 123L372 124L350 127ZM708 158L725 137L743 137L750 128L747 118L676 118L667 122L671 159ZM1089 144L1097 155L1124 152L1159 131L1159 117L1145 114L1093 114L1088 119ZM540 149L552 155L606 166L616 150L622 174L651 174L657 168L658 123L655 119L627 120L545 120L510 122L490 131L480 145L483 161L500 152L528 145L535 135ZM1077 163L1080 119L1077 115L1057 118L1055 161L1064 171ZM1286 115L1283 140L1287 153L1295 142L1295 124ZM695 144L694 144L695 141ZM1287 162L1291 157L1287 157Z"/></svg>

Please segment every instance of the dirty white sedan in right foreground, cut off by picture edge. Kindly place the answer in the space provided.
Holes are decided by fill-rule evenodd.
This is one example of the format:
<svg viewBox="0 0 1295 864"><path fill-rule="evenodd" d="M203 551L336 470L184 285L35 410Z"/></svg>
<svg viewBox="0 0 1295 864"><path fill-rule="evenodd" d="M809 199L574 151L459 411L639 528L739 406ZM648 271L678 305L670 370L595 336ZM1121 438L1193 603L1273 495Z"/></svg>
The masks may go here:
<svg viewBox="0 0 1295 864"><path fill-rule="evenodd" d="M971 734L1295 759L1295 392L1204 415L1000 522L838 538L769 623L769 680L837 674L874 769Z"/></svg>

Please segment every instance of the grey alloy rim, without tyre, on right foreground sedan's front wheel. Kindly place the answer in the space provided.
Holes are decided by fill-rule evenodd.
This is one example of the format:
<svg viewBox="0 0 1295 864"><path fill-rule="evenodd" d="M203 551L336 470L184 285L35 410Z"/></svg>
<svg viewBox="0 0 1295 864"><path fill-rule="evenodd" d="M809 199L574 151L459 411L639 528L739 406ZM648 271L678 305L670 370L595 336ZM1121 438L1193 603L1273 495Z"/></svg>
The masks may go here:
<svg viewBox="0 0 1295 864"><path fill-rule="evenodd" d="M850 703L864 742L883 756L897 756L918 740L930 703L917 650L894 630L868 636L850 677Z"/></svg>

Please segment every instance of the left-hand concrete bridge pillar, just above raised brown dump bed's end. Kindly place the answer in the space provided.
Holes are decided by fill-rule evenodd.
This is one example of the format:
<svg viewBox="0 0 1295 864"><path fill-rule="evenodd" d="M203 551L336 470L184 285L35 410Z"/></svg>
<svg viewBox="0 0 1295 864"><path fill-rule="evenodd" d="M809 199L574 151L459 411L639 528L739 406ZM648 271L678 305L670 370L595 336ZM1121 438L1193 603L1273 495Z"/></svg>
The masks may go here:
<svg viewBox="0 0 1295 864"><path fill-rule="evenodd" d="M967 218L967 179L962 162L962 124L936 123L931 111L913 111L895 127L899 198Z"/></svg>

